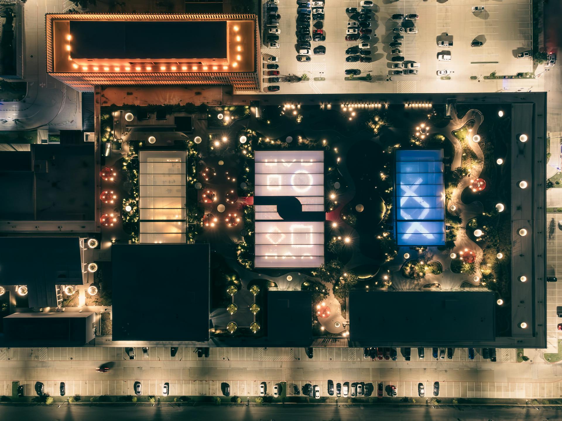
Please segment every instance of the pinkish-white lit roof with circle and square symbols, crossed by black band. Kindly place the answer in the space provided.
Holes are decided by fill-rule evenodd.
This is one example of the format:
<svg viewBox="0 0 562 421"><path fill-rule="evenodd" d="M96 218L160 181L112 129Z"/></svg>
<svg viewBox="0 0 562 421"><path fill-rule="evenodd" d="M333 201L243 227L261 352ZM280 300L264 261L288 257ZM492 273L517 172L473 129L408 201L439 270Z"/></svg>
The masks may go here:
<svg viewBox="0 0 562 421"><path fill-rule="evenodd" d="M324 152L255 153L256 268L324 263Z"/></svg>

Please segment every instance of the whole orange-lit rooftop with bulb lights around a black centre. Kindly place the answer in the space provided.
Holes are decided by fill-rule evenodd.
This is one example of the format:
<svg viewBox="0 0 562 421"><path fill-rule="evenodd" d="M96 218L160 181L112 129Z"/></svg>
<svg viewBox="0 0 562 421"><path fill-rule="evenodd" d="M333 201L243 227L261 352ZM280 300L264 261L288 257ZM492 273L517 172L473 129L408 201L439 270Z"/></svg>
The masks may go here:
<svg viewBox="0 0 562 421"><path fill-rule="evenodd" d="M88 77L256 72L256 36L255 15L53 14L47 70Z"/></svg>

